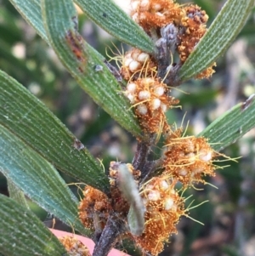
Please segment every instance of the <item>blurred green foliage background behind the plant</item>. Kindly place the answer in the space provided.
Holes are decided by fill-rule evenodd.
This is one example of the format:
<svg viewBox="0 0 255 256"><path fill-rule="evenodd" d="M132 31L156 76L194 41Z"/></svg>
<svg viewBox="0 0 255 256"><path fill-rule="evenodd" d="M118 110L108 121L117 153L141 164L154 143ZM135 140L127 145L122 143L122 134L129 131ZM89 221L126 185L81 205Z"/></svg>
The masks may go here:
<svg viewBox="0 0 255 256"><path fill-rule="evenodd" d="M195 0L194 3L207 11L211 23L224 1ZM187 133L199 134L224 111L255 93L254 23L253 10L240 36L227 54L218 60L216 73L210 80L192 80L173 89L182 109L169 111L169 122L180 124L184 118L184 125L190 122ZM105 57L107 46L114 52L116 48L113 44L122 48L120 42L99 29L82 13L79 14L79 29L85 40ZM128 47L123 45L123 48ZM0 69L48 105L88 150L103 160L105 168L110 161L116 159L132 161L135 138L118 126L77 86L59 63L54 51L26 24L8 0L0 0ZM232 158L241 158L238 162L217 163L219 166L230 165L229 168L219 169L215 177L208 179L218 189L207 185L200 191L200 186L197 185L186 191L195 198L194 205L210 200L190 211L190 216L204 225L191 219L181 219L178 235L171 238L172 242L161 255L255 255L254 137L255 130L252 129L243 139L223 152ZM75 182L64 174L62 176L68 184ZM72 185L71 188L77 193L77 186ZM0 192L8 194L2 174ZM47 224L47 219L51 216L47 216L37 205L30 205ZM63 227L59 225L59 228ZM132 251L129 253L134 254Z"/></svg>

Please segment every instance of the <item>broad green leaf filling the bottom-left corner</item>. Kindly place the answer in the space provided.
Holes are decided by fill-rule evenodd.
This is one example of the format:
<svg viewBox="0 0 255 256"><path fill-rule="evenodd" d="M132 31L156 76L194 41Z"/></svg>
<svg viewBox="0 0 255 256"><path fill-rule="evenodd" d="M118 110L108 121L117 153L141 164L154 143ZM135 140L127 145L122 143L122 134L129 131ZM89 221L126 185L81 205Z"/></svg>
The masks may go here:
<svg viewBox="0 0 255 256"><path fill-rule="evenodd" d="M58 238L27 208L0 195L0 249L5 256L63 256Z"/></svg>

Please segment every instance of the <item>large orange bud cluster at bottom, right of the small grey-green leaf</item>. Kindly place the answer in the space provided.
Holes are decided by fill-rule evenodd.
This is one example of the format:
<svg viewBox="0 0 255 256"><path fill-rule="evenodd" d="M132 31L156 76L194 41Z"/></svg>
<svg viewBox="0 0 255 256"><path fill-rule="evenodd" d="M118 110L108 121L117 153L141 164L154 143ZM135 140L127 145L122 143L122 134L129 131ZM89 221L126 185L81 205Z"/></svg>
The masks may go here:
<svg viewBox="0 0 255 256"><path fill-rule="evenodd" d="M144 232L133 238L152 255L162 251L169 234L177 233L179 217L185 214L184 199L174 189L176 182L161 175L150 179L141 192L146 208Z"/></svg>

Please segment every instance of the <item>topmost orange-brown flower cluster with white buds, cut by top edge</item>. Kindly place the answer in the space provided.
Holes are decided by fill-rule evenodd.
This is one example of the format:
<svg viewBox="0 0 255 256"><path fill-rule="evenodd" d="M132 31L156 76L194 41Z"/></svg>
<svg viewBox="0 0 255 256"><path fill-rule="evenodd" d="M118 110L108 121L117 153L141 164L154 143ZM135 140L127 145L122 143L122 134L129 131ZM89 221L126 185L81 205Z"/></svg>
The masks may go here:
<svg viewBox="0 0 255 256"><path fill-rule="evenodd" d="M180 5L173 0L131 0L130 6L133 20L150 36L163 37L161 30L165 26L174 26L177 33L173 34L176 38L173 38L174 45L170 48L172 54L175 50L178 52L181 64L184 64L207 31L208 15L197 5ZM211 77L213 65L215 63L196 78Z"/></svg>

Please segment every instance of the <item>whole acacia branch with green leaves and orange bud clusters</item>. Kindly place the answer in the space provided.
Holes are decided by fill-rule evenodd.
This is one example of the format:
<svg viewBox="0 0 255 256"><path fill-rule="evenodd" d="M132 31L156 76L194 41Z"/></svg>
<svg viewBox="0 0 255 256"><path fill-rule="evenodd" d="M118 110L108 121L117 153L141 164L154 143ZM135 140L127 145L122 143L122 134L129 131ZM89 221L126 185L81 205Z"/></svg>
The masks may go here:
<svg viewBox="0 0 255 256"><path fill-rule="evenodd" d="M255 126L251 96L198 136L186 136L183 127L167 122L166 112L178 106L171 89L212 76L254 1L226 1L207 29L208 15L192 3L131 0L129 17L111 0L75 0L91 20L133 47L112 58L119 68L79 34L72 0L9 1L82 89L133 134L137 150L133 162L111 162L104 171L42 102L0 71L0 170L12 197L0 196L1 253L90 255L80 244L71 248L67 238L63 247L27 208L26 195L81 234L93 232L94 256L107 255L125 237L157 255L179 218L189 216L183 192L206 185L204 177L217 168L213 161L224 156L218 151ZM156 146L161 156L151 161ZM56 169L86 184L81 202Z"/></svg>

